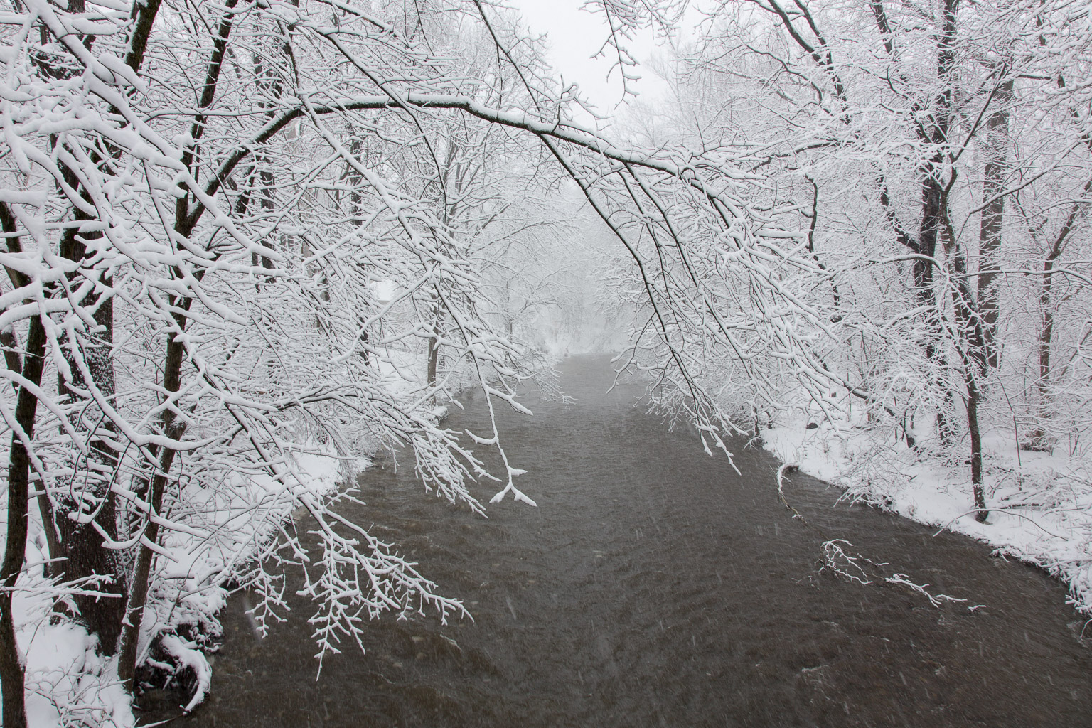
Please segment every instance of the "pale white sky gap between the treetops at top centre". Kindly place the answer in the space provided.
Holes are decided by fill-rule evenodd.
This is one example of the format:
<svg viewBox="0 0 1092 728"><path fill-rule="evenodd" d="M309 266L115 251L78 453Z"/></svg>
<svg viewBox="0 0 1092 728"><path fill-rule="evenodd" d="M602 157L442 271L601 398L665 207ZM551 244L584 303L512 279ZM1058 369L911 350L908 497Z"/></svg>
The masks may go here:
<svg viewBox="0 0 1092 728"><path fill-rule="evenodd" d="M598 114L613 115L622 97L621 74L615 69L607 81L613 60L591 58L607 37L602 15L580 10L582 0L510 0L510 3L522 13L524 24L532 32L546 34L550 64L566 83L580 84L581 96L591 102ZM660 52L651 31L634 38L629 50L641 63L630 69L630 73L641 76L632 87L640 94L640 100L652 103L666 91L666 84L645 68L649 58Z"/></svg>

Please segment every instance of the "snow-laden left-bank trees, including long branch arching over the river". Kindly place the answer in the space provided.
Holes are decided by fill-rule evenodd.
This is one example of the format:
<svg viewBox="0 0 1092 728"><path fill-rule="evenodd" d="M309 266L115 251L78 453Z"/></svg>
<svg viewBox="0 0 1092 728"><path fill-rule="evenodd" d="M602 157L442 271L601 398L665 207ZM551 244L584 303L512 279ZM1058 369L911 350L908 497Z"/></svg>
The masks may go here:
<svg viewBox="0 0 1092 728"><path fill-rule="evenodd" d="M670 22L670 4L603 5L624 70L628 28ZM25 725L21 589L117 651L129 685L157 640L193 659L171 632L224 584L275 612L271 564L313 564L322 653L364 614L462 609L339 515L348 496L317 490L308 463L408 449L453 502L482 510L468 484L488 476L494 501L533 504L495 425L470 434L500 451L488 475L436 422L437 363L400 375L428 342L490 413L520 408L533 359L483 285L503 262L489 249L537 224L513 214L513 179L569 178L622 243L632 365L708 447L741 429L711 385L772 399L782 370L816 392L838 381L809 339L828 319L800 276L826 274L779 222L790 201L721 150L627 148L570 121L569 91L501 8L21 0L0 23L5 726ZM509 152L522 166L506 171ZM712 381L707 362L728 359ZM59 559L46 573L27 560L32 502ZM310 553L280 526L300 508Z"/></svg>

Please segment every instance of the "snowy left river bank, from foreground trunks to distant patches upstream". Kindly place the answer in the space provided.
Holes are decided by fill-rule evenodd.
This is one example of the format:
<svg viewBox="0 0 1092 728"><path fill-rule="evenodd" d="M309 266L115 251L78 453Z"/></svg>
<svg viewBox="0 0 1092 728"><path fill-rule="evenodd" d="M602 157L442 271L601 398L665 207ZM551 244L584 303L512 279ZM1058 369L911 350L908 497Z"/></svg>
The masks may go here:
<svg viewBox="0 0 1092 728"><path fill-rule="evenodd" d="M411 379L414 361L400 350L376 362L393 397L413 398L414 387L419 386ZM453 378L455 385L460 381ZM420 416L440 422L447 408L423 406ZM372 455L377 450L378 444L365 447ZM156 549L159 557L142 619L136 681L157 688L179 683L185 711L207 695L209 656L223 637L219 614L229 594L253 581L253 563L287 537L278 532L290 524L294 511L343 494L356 474L371 464L369 456L339 454L332 443L314 441L285 447L282 455L280 479L262 468L240 468L226 473L215 489L186 486L165 504L164 516L171 527L164 529ZM7 491L0 491L0 518L7 514L5 501ZM7 523L0 521L0 539L5 533ZM26 554L13 612L29 727L136 725L132 696L118 679L117 658L99 654L96 639L83 625L55 613L61 590L47 574L47 539L36 506L29 509ZM272 586L275 592L276 584ZM272 612L265 617L276 619Z"/></svg>

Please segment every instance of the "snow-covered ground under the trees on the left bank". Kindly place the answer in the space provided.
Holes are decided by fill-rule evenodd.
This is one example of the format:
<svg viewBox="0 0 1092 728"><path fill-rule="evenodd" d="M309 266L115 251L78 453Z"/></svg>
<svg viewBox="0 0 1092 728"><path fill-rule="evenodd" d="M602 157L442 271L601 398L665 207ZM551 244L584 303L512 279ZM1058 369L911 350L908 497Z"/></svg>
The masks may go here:
<svg viewBox="0 0 1092 728"><path fill-rule="evenodd" d="M293 489L296 493L321 498L337 488L345 472L345 463L333 456L300 453L296 461L300 474ZM144 612L142 654L153 637L174 635L163 642L163 648L178 665L193 670L197 694L192 705L201 702L209 688L211 671L199 642L218 634L215 614L228 595L221 575L251 559L288 517L294 502L283 493L284 487L268 476L234 478L216 493L189 492L180 499L180 509L188 506L194 515L217 520L203 525L206 533L212 526L216 537L198 538L178 530L167 534L163 547L170 565L153 585ZM235 497L226 496L229 493ZM219 503L217 509L205 508L203 502L225 497L236 502ZM5 498L0 498L0 513L7 512L3 501ZM256 509L254 503L264 503L264 508ZM173 514L181 523L186 516ZM68 621L51 623L54 590L43 570L45 537L38 510L33 506L27 552L28 568L20 578L14 613L20 652L25 656L31 728L134 725L129 695L117 679L116 658L96 655L95 642L82 626ZM183 635L194 636L197 642Z"/></svg>

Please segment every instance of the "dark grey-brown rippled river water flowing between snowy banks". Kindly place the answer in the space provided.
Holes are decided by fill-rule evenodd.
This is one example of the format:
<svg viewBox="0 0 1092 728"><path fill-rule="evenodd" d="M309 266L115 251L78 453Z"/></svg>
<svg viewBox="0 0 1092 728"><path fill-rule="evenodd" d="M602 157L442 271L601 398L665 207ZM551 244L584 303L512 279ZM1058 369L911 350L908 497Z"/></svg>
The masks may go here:
<svg viewBox="0 0 1092 728"><path fill-rule="evenodd" d="M509 499L486 520L424 496L412 468L360 478L367 505L349 515L381 524L474 621L372 622L367 654L346 645L316 682L309 605L259 641L237 597L211 697L173 725L1092 726L1092 649L1056 582L963 537L831 508L838 493L797 474L802 524L769 454L738 443L736 475L634 408L636 390L605 395L607 358L561 370L574 404L502 415L538 508ZM480 395L465 404L449 426L484 430ZM969 601L937 609L819 573L824 536ZM146 697L145 717L177 702Z"/></svg>

